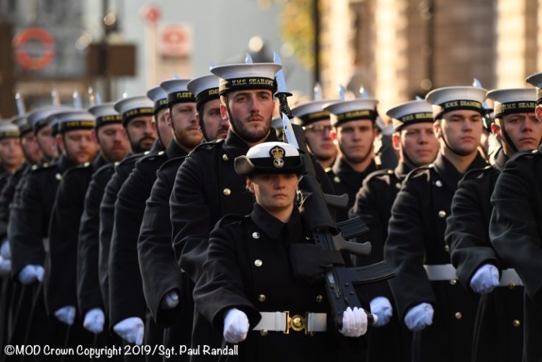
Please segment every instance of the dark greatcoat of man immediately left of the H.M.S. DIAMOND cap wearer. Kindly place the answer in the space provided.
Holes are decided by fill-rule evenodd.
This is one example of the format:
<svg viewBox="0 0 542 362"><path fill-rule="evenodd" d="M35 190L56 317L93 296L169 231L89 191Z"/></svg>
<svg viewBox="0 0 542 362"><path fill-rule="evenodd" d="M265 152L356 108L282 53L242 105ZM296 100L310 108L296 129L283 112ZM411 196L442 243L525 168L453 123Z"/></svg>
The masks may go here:
<svg viewBox="0 0 542 362"><path fill-rule="evenodd" d="M356 194L349 216L359 215L369 228L367 234L363 234L359 241L371 241L371 255L356 257L356 266L370 265L384 260L387 223L392 214L395 197L409 171L406 164L399 162L395 170L375 171L363 180L363 186ZM377 296L385 296L394 309L387 325L374 327L368 334L366 361L410 361L412 332L399 320L397 307L395 307L387 281L366 285L366 293L369 300Z"/></svg>

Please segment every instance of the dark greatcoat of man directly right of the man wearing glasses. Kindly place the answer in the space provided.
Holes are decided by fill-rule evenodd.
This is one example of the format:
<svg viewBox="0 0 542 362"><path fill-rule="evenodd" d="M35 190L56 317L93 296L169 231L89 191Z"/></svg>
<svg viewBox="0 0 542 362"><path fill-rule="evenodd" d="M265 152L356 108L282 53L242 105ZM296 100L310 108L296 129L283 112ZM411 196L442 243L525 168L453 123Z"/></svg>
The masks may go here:
<svg viewBox="0 0 542 362"><path fill-rule="evenodd" d="M342 222L348 219L348 212L354 205L356 200L356 193L358 193L363 179L368 174L378 169L375 160L371 160L371 163L363 172L354 171L352 167L344 160L343 157L337 157L335 163L331 169L327 170L327 176L333 184L335 193L342 195L346 193L348 195L348 206L346 209L337 209L337 221Z"/></svg>

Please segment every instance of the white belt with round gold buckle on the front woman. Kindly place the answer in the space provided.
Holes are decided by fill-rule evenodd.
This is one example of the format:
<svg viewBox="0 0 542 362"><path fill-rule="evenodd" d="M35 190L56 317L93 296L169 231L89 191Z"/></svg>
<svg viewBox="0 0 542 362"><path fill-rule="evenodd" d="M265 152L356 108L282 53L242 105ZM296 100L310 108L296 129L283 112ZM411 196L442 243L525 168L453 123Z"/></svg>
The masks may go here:
<svg viewBox="0 0 542 362"><path fill-rule="evenodd" d="M325 332L327 331L326 313L305 313L305 315L290 315L289 312L260 312L262 319L253 330L266 330L272 332L284 332L290 330L299 332Z"/></svg>

